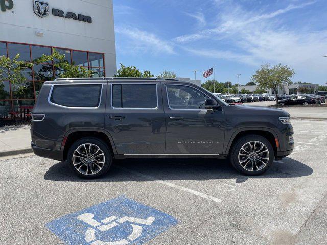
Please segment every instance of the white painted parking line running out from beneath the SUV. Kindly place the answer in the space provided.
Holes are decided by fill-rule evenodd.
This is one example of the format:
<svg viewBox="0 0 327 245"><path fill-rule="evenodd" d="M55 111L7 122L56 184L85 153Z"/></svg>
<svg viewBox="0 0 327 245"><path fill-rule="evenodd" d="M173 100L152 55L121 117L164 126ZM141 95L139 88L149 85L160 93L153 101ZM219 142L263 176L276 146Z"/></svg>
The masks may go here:
<svg viewBox="0 0 327 245"><path fill-rule="evenodd" d="M128 168L125 168L125 167L119 167L119 166L114 166L118 169L121 169L121 170L124 170L124 171L127 171L131 174L134 174L134 175L137 175L139 177L143 177L143 178L146 178L148 180L152 180L152 181L155 181L155 182L158 182L160 184L163 184L163 185L168 185L170 187L173 187L175 189L179 189L179 190L182 190L182 191L185 191L185 192L189 192L191 194L194 194L194 195L197 195L201 198L205 198L205 199L208 199L208 200L211 200L211 201L214 201L216 203L220 203L222 200L219 199L219 198L215 198L215 197L212 197L211 195L207 195L207 194L204 194L204 193L201 193L201 192L198 192L198 191L195 191L195 190L192 190L192 189L189 189L189 188L185 188L185 187L182 187L182 186L179 186L179 185L175 185L175 184L172 184L168 181L164 181L164 180L157 180L151 176L148 176L148 175L144 175L142 173L139 173L139 172L136 172L136 171L133 171L133 170L130 170Z"/></svg>

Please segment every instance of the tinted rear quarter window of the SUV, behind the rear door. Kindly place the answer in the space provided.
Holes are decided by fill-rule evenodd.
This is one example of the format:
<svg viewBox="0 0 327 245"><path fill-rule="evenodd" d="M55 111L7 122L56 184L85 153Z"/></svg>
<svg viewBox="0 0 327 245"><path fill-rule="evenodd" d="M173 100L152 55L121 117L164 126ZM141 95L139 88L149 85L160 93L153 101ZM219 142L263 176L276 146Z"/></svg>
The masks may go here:
<svg viewBox="0 0 327 245"><path fill-rule="evenodd" d="M54 85L50 101L67 107L98 107L102 85Z"/></svg>

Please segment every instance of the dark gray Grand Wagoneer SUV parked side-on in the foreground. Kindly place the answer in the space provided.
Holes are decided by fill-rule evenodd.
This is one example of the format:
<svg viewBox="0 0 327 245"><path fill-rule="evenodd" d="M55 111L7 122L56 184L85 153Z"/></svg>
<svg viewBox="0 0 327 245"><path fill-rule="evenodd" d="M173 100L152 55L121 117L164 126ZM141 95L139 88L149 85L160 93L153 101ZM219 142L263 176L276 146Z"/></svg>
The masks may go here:
<svg viewBox="0 0 327 245"><path fill-rule="evenodd" d="M241 173L259 175L294 148L284 110L229 105L174 79L45 82L32 118L34 153L67 160L89 179L132 157L228 157Z"/></svg>

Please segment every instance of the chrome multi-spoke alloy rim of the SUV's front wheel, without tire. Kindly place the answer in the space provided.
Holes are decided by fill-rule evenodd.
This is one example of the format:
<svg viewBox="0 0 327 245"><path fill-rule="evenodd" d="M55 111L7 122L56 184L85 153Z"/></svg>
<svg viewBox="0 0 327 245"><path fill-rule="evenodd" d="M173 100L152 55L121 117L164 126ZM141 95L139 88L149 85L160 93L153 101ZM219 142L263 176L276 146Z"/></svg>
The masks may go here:
<svg viewBox="0 0 327 245"><path fill-rule="evenodd" d="M263 169L268 162L268 148L259 141L247 142L239 151L239 163L247 171L259 171Z"/></svg>

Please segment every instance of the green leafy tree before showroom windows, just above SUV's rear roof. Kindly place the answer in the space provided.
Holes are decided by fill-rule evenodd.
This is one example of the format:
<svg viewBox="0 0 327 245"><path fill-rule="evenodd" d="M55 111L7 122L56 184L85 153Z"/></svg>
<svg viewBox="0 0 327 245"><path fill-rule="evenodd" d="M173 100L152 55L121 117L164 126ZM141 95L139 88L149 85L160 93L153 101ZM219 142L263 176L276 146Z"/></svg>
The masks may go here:
<svg viewBox="0 0 327 245"><path fill-rule="evenodd" d="M52 55L42 55L40 58L35 60L35 63L40 64L49 61L53 61L55 70L59 72L60 78L89 78L93 74L91 70L88 70L85 67L76 66L74 62L69 64L65 58L65 55L61 55L58 51L55 50L55 48L52 49ZM44 71L48 71L48 68L46 68L47 66L44 67ZM41 76L40 79L45 79L42 78L42 76L44 76L42 74L42 69L43 68L41 68L40 72L37 72L36 74L38 74L37 76ZM46 79L49 79L49 77Z"/></svg>

